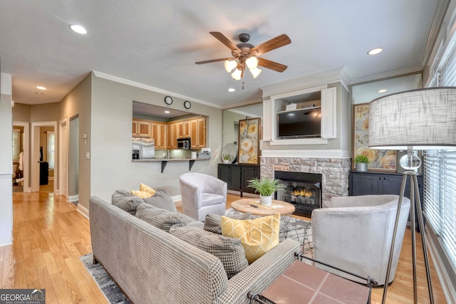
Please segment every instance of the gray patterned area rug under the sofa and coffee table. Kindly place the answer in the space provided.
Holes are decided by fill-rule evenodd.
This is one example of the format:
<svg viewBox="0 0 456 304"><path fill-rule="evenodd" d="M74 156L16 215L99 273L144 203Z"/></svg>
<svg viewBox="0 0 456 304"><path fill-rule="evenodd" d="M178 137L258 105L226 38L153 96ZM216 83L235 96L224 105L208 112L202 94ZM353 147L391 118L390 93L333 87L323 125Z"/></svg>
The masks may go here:
<svg viewBox="0 0 456 304"><path fill-rule="evenodd" d="M227 209L225 212L226 215L234 214L233 209ZM281 227L284 225L281 225ZM302 219L291 218L287 229L286 229L286 238L287 239L294 239L301 244L301 252L304 253L304 256L312 257L313 249L312 246L312 234L311 234L311 222L304 221ZM285 231L281 231L281 235L284 235ZM84 266L86 266L87 271L93 278L93 281L97 283L100 290L105 295L106 299L109 303L119 303L119 304L128 304L130 301L127 297L123 294L123 292L118 288L113 281L113 279L109 276L109 274L105 271L105 268L98 264L92 263L92 253L88 253L85 256L81 256L81 261L83 262ZM307 263L304 261L304 263Z"/></svg>

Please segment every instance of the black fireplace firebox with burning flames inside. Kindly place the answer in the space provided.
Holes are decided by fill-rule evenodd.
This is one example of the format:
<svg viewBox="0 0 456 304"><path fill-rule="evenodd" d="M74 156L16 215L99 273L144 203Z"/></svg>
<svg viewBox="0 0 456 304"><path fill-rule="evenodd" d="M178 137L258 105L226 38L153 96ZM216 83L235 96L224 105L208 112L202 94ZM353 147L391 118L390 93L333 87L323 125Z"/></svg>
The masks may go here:
<svg viewBox="0 0 456 304"><path fill-rule="evenodd" d="M321 208L322 174L275 171L285 188L276 192L275 199L293 204L294 214L311 217L312 211Z"/></svg>

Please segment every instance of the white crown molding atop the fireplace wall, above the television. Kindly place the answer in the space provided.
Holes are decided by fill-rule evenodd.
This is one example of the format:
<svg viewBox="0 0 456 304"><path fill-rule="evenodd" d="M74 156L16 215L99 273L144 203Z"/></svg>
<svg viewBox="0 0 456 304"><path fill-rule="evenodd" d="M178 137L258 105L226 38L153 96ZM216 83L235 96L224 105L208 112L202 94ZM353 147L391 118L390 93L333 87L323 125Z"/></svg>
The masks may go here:
<svg viewBox="0 0 456 304"><path fill-rule="evenodd" d="M298 78L281 81L280 83L264 85L260 87L260 89L263 91L263 98L267 98L271 95L312 88L318 85L328 85L330 83L342 83L343 87L348 90L350 77L348 76L345 67L333 68L332 70L325 70L311 75L304 75Z"/></svg>

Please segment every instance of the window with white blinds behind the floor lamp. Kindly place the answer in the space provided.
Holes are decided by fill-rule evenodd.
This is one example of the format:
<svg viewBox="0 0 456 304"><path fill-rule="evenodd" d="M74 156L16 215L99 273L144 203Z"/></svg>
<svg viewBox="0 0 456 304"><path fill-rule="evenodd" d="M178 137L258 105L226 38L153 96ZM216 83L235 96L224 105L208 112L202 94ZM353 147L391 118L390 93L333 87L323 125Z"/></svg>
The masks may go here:
<svg viewBox="0 0 456 304"><path fill-rule="evenodd" d="M456 36L445 51L432 86L456 85ZM448 260L456 268L456 150L423 153L424 211Z"/></svg>

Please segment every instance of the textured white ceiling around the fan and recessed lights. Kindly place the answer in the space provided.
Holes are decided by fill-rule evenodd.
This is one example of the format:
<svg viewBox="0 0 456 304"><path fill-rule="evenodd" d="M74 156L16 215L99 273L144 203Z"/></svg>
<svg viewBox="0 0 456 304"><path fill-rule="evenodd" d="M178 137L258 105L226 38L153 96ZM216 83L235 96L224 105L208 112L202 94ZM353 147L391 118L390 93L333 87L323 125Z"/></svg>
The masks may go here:
<svg viewBox="0 0 456 304"><path fill-rule="evenodd" d="M16 103L60 101L91 70L222 107L261 98L259 87L344 66L353 80L420 70L437 0L0 1L1 72ZM88 35L73 33L78 23ZM264 54L288 65L232 80L230 56L209 31L255 46L281 33L291 44ZM377 56L371 48L382 47ZM244 83L244 90L242 90ZM36 86L48 90L38 96ZM229 93L228 88L235 88Z"/></svg>

